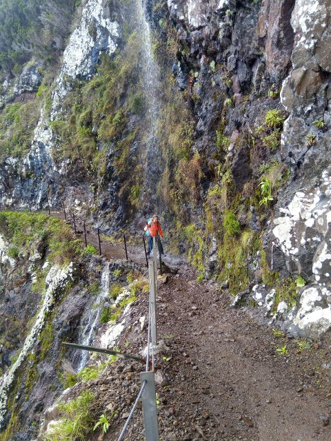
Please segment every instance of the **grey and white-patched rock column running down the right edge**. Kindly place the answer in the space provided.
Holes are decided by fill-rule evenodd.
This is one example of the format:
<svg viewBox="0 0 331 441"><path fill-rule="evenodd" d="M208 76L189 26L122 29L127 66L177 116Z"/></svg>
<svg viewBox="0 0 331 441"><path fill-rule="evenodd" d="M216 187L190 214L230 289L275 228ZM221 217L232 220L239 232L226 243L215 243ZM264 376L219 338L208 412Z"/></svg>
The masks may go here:
<svg viewBox="0 0 331 441"><path fill-rule="evenodd" d="M290 115L281 153L297 179L283 190L272 227L288 271L308 281L285 319L287 329L310 338L331 326L330 6L329 0L297 0L292 11L292 69L281 90Z"/></svg>

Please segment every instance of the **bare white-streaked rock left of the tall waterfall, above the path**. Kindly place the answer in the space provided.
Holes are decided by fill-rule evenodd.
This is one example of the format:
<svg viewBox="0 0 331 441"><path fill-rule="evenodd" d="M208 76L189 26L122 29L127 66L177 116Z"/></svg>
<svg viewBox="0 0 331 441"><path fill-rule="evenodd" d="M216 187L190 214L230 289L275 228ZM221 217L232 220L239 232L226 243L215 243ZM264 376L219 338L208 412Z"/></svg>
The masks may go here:
<svg viewBox="0 0 331 441"><path fill-rule="evenodd" d="M116 6L116 5L115 5ZM119 23L117 8L105 0L88 0L83 8L81 21L72 32L70 41L63 53L61 72L55 80L52 92L52 106L50 115L45 108L41 110L40 119L34 130L30 152L19 161L17 158L8 158L0 166L0 204L5 207L12 205L28 208L28 201L34 209L46 207L46 198L55 207L59 205L59 196L66 187L70 200L72 194L71 184L74 187L76 179L68 174L67 163L57 165L52 158L54 133L50 121L58 118L63 100L71 88L70 81L75 79L90 79L95 71L95 65L101 53L112 54L118 45ZM23 70L14 94L23 92L36 92L41 83L39 65L34 64ZM21 177L23 174L24 178ZM79 185L82 187L82 184ZM91 197L87 189L85 199Z"/></svg>

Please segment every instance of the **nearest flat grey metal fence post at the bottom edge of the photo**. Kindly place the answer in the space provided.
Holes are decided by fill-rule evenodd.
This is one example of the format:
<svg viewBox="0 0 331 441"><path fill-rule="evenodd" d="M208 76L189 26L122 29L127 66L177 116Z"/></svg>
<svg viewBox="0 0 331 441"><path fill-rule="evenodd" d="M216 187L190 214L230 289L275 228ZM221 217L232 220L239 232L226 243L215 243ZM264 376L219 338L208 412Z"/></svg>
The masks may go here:
<svg viewBox="0 0 331 441"><path fill-rule="evenodd" d="M159 427L157 424L157 398L155 394L154 371L142 372L141 383L146 381L141 400L143 401L143 422L145 425L146 441L159 441Z"/></svg>

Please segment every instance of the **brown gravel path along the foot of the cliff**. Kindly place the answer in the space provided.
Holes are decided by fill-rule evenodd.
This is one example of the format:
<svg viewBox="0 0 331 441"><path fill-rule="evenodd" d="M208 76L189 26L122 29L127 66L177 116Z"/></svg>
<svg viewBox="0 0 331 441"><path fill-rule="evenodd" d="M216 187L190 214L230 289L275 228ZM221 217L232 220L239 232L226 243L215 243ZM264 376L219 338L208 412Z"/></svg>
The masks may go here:
<svg viewBox="0 0 331 441"><path fill-rule="evenodd" d="M97 247L97 235L91 232L89 242ZM128 245L138 265L146 263L142 248ZM104 241L103 255L125 258L123 245ZM330 441L330 334L302 349L259 325L249 311L231 308L226 294L197 283L180 260L167 256L166 263L177 274L161 278L157 298L159 338L168 347L156 365L165 378L157 386L160 440ZM141 298L132 324L147 312L148 300ZM130 351L138 353L145 335L132 328L120 346L130 341ZM287 353L277 353L284 345ZM132 380L139 384L138 372ZM114 422L103 439L117 440L122 426L123 420ZM144 439L141 409L125 439Z"/></svg>

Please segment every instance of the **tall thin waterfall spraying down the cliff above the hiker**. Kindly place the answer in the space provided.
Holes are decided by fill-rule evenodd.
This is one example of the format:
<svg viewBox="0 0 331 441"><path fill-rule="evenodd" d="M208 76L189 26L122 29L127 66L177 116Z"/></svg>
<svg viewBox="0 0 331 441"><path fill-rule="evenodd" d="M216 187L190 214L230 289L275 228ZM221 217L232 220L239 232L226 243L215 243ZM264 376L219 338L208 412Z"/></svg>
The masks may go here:
<svg viewBox="0 0 331 441"><path fill-rule="evenodd" d="M157 122L161 109L158 96L159 66L152 52L152 34L147 20L146 0L135 0L137 8L137 27L141 44L141 85L146 96L145 117L148 127L146 140L146 176L147 182L152 189L150 197L155 203L155 188L161 174L161 152L157 139Z"/></svg>

